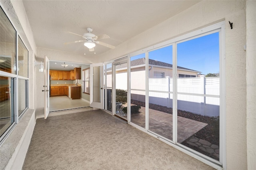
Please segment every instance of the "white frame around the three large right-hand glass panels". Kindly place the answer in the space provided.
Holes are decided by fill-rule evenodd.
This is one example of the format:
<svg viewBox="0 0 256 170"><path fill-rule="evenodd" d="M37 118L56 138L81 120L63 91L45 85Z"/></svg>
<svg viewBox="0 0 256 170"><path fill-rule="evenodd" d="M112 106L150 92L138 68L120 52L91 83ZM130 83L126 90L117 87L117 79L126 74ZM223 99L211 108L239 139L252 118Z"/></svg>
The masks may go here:
<svg viewBox="0 0 256 170"><path fill-rule="evenodd" d="M226 167L226 115L225 115L225 112L226 112L226 101L225 101L225 96L226 96L226 84L225 84L225 22L220 22L220 23L217 23L217 24L214 24L212 26L208 26L206 28L202 28L200 30L196 30L194 32L190 32L188 34L184 34L182 36L179 36L179 37L176 37L174 39L171 39L171 40L168 40L166 42L162 42L162 43L159 43L159 44L156 44L156 45L153 45L151 47L147 47L145 49L141 49L139 51L136 51L134 53L130 53L128 54L128 68L130 68L130 57L134 56L134 55L138 55L140 53L146 53L146 61L148 60L148 51L151 51L151 50L154 50L154 49L157 49L157 48L160 48L160 47L163 47L163 46L166 46L166 45L170 45L170 44L175 44L173 45L173 68L177 68L177 59L176 59L176 43L177 42L182 42L182 41L188 41L189 39L194 39L194 38L197 38L197 37L201 37L205 35L208 35L208 34L212 34L214 32L219 32L219 42L220 42L220 48L219 48L219 51L220 51L220 158L219 158L219 161L217 160L214 160L213 158L209 158L208 156L204 155L204 154L201 154L199 152L196 152L188 147L185 147L181 144L178 144L177 141L176 141L176 138L177 138L177 134L176 134L176 130L173 130L174 133L173 133L173 138L175 139L173 142L170 142L170 141L167 141L167 140L164 140L162 138L159 138L158 136L156 136L155 134L152 134L152 133L149 133L148 132L148 112L147 112L147 105L146 105L146 114L145 114L145 117L146 117L146 128L142 128L142 127L138 127L138 125L135 125L134 123L131 123L130 122L130 119L128 119L128 124L154 136L154 137L157 137L159 140L173 146L174 148L182 151L182 152L185 152L186 154L198 159L198 160L201 160L202 162L214 167L214 168L221 168L222 166L223 167ZM148 67L148 63L146 62L146 67ZM148 80L148 73L146 72L146 81ZM173 69L173 77L176 77L177 78L177 69ZM128 82L130 80L130 69L128 69ZM146 82L146 103L148 102L148 83ZM128 83L128 108L130 106L130 83ZM176 120L177 120L177 83L176 81L174 81L173 83L173 126L175 127L175 129L177 129L177 125L176 125ZM128 117L130 117L130 111L128 111Z"/></svg>

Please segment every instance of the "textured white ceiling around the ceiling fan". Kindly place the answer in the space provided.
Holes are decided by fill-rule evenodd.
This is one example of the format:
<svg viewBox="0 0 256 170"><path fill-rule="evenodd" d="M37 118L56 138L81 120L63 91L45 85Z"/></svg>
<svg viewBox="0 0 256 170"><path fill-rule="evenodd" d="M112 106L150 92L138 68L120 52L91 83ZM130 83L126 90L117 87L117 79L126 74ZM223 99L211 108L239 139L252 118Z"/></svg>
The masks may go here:
<svg viewBox="0 0 256 170"><path fill-rule="evenodd" d="M79 35L91 27L93 34L107 34L100 40L117 46L164 20L186 10L199 1L193 0L23 0L37 47L78 54L100 55L108 47L96 45L89 52ZM161 31L161 30L159 30Z"/></svg>

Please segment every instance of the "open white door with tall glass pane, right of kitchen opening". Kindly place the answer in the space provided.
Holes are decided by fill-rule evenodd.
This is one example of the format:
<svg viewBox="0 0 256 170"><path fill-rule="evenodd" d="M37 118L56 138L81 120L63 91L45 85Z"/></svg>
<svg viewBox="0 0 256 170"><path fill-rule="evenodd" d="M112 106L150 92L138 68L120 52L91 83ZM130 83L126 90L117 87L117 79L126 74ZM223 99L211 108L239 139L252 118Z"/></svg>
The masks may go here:
<svg viewBox="0 0 256 170"><path fill-rule="evenodd" d="M90 65L90 107L104 108L103 63Z"/></svg>

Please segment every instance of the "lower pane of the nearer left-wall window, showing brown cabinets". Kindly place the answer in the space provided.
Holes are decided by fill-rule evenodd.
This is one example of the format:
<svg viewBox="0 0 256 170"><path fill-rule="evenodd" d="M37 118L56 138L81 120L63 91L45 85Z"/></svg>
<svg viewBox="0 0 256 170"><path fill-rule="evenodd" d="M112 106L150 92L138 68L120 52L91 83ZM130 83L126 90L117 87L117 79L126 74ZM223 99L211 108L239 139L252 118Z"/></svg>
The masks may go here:
<svg viewBox="0 0 256 170"><path fill-rule="evenodd" d="M14 123L14 78L0 76L0 136Z"/></svg>

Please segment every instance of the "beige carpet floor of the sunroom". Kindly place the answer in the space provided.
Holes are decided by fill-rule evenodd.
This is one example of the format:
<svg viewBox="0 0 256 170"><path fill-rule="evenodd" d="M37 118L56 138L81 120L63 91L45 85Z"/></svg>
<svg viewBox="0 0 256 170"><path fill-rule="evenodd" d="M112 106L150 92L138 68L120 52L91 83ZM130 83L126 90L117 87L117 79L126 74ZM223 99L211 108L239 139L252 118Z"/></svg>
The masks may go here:
<svg viewBox="0 0 256 170"><path fill-rule="evenodd" d="M101 110L36 120L24 170L212 170Z"/></svg>

